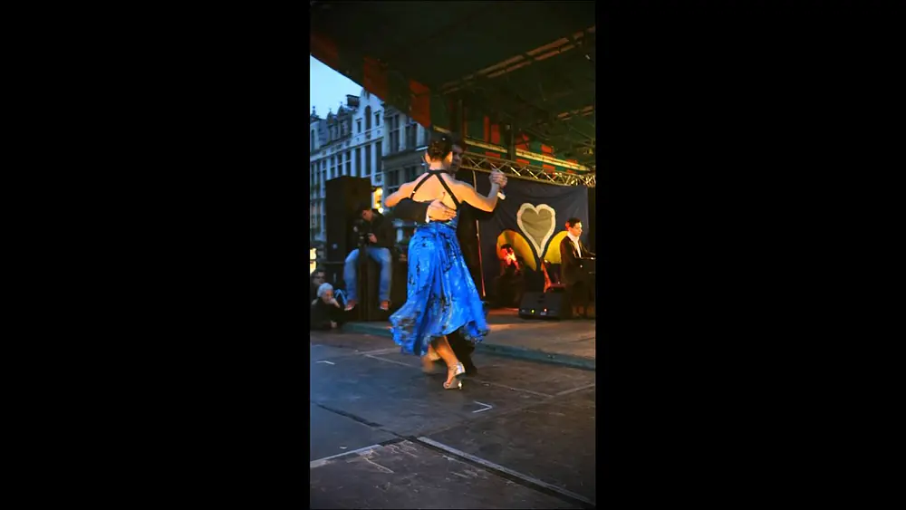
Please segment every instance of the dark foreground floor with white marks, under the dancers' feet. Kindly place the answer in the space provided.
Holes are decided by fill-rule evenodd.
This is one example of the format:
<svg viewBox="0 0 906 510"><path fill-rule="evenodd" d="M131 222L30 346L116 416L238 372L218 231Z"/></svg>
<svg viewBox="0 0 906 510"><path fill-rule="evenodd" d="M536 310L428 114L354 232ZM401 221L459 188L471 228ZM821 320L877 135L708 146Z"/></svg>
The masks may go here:
<svg viewBox="0 0 906 510"><path fill-rule="evenodd" d="M477 353L443 390L380 336L311 353L312 508L593 507L593 371Z"/></svg>

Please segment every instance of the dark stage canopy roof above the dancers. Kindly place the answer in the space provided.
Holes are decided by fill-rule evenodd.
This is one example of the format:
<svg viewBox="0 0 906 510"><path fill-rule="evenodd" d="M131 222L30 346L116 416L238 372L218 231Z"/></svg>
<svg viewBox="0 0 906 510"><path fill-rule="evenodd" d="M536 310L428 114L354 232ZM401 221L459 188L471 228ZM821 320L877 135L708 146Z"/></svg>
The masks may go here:
<svg viewBox="0 0 906 510"><path fill-rule="evenodd" d="M422 125L461 101L589 168L594 46L593 2L311 2L313 56Z"/></svg>

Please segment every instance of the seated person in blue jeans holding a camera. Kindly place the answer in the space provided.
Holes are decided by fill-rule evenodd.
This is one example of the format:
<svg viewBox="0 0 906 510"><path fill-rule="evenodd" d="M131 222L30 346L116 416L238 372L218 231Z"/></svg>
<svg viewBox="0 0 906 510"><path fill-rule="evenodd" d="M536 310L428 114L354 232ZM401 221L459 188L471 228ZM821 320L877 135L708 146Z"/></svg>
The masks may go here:
<svg viewBox="0 0 906 510"><path fill-rule="evenodd" d="M364 236L365 251L368 256L381 265L381 279L378 285L378 299L381 301L381 310L390 309L390 276L391 260L390 248L393 246L393 225L390 220L371 208L371 204L363 205L360 211L361 222L355 226L356 240ZM359 263L359 248L350 252L346 257L343 268L343 281L346 282L346 310L352 310L358 303L356 294L356 276Z"/></svg>

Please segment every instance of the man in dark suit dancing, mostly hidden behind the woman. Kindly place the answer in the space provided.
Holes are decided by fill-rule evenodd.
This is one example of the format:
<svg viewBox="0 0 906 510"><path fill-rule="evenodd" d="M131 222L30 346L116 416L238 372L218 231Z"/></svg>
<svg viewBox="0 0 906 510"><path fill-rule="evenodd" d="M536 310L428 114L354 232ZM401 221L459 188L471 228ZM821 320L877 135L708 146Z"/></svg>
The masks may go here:
<svg viewBox="0 0 906 510"><path fill-rule="evenodd" d="M457 136L453 136L453 162L450 165L449 173L456 175L457 170L459 169L459 161L462 158L462 153L465 145L462 140ZM506 177L504 176L503 182L498 182L497 184L506 185ZM502 187L501 186L501 187ZM457 227L457 237L459 239L459 245L462 247L464 255L466 255L467 263L469 261L468 254L471 250L468 249L469 246L475 244L475 239L469 238L467 229L464 229L463 226L469 224L469 220L465 217L471 217L471 223L474 226L475 216L474 209L471 206L468 206L466 203L460 203L459 207L463 210L459 217L459 224ZM472 214L469 214L472 213ZM455 217L457 212L449 207L443 205L440 200L434 200L433 202L420 203L416 202L410 198L403 198L399 204L393 207L393 216L398 219L404 219L409 221L418 221L419 223L425 223L427 220L432 221L447 221L448 219ZM468 264L470 267L472 264ZM480 289L480 287L479 287ZM463 367L466 368L467 375L475 375L478 369L472 364L472 351L475 351L475 345L472 342L464 340L459 332L453 332L447 335L447 340L450 344L450 348L453 350L453 353L456 354L457 359L462 363ZM442 360L441 360L442 361Z"/></svg>

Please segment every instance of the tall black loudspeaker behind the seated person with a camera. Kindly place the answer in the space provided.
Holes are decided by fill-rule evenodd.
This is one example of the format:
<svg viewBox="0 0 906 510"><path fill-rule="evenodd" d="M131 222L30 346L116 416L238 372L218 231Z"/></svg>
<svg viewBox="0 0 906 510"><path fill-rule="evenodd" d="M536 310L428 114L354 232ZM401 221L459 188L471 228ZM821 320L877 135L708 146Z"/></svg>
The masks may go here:
<svg viewBox="0 0 906 510"><path fill-rule="evenodd" d="M355 209L371 204L371 179L341 176L328 180L326 191L327 262L346 260L346 255L356 247L352 236L352 222L358 217Z"/></svg>

